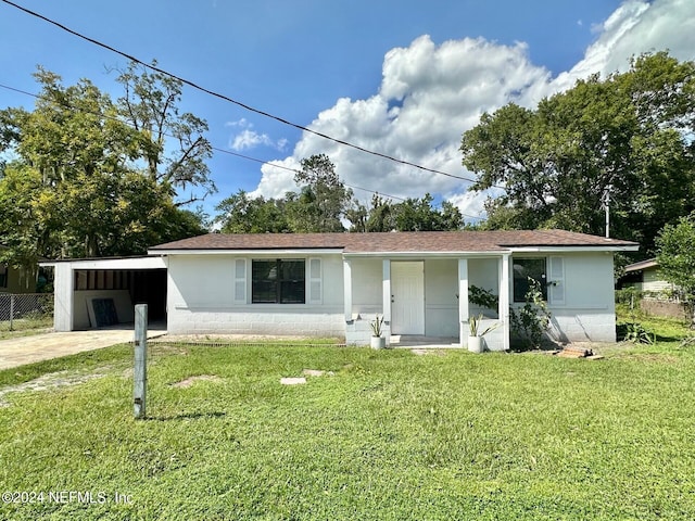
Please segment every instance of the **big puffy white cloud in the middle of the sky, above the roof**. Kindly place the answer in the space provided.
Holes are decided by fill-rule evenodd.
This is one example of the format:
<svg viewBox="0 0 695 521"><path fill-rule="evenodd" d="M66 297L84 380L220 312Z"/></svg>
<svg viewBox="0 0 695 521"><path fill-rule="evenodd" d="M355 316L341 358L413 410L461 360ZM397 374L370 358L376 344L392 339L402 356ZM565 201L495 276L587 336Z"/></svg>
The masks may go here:
<svg viewBox="0 0 695 521"><path fill-rule="evenodd" d="M460 136L477 124L483 111L508 100L532 105L549 79L534 66L527 47L500 46L484 39L447 41L435 46L428 36L407 48L393 49L383 63L378 93L365 100L340 99L311 124L312 130L386 155L472 178L463 168ZM400 198L459 193L469 182L424 171L351 149L305 132L283 166L298 167L312 154L325 153L352 187ZM293 175L271 165L253 194L280 196L294 189ZM368 192L355 190L367 200Z"/></svg>

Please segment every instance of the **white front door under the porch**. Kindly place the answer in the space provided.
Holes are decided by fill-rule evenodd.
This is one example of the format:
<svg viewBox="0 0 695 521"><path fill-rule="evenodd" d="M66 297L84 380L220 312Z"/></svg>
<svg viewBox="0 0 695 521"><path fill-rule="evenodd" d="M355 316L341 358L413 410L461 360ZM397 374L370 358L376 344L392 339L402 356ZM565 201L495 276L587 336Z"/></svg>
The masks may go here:
<svg viewBox="0 0 695 521"><path fill-rule="evenodd" d="M391 333L425 334L425 263L391 263Z"/></svg>

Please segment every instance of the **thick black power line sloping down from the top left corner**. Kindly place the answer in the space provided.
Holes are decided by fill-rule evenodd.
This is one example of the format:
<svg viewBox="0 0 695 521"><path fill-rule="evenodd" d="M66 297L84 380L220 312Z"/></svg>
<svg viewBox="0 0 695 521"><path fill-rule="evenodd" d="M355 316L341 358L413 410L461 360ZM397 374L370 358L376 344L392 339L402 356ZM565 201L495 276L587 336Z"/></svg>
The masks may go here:
<svg viewBox="0 0 695 521"><path fill-rule="evenodd" d="M60 29L62 29L62 30L64 30L66 33L70 33L73 36L76 36L77 38L80 38L80 39L86 40L86 41L88 41L90 43L93 43L94 46L98 46L98 47L106 49L106 50L109 50L111 52L114 52L114 53L116 53L116 54L118 54L118 55L121 55L123 58L126 58L126 59L130 60L131 62L135 62L135 63L137 63L137 64L139 64L139 65L141 65L143 67L147 67L147 68L149 68L151 71L154 71L156 73L160 73L160 74L166 75L166 76L168 76L170 78L174 78L174 79L176 79L177 81L180 81L184 85L188 85L189 87L192 87L193 89L200 90L201 92L205 92L206 94L210 94L212 97L225 100L225 101L227 101L229 103L233 103L235 105L238 105L238 106L240 106L240 107L242 107L242 109L244 109L244 110L247 110L249 112L253 112L255 114L268 117L270 119L275 119L276 122L282 123L283 125L288 125L290 127L294 127L294 128L296 128L299 130L313 134L315 136L318 136L320 138L327 139L329 141L333 141L334 143L342 144L344 147L350 147L352 149L358 150L359 152L371 154L371 155L375 155L377 157L382 157L384 160L389 160L389 161L392 161L392 162L395 162L395 163L399 163L399 164L402 164L402 165L412 166L414 168L418 168L418 169L424 170L424 171L429 171L429 173L432 173L432 174L439 174L439 175L442 175L442 176L451 177L451 178L454 178L454 179L460 179L460 180L468 181L468 182L476 182L475 179L470 179L468 177L458 176L458 175L455 175L455 174L451 174L451 173L442 171L442 170L437 170L437 169L433 169L433 168L428 168L426 166L418 165L417 163L412 163L409 161L399 160L397 157L393 157L391 155L383 154L381 152L376 152L374 150L369 150L369 149L366 149L364 147L359 147L357 144L351 143L349 141L344 141L342 139L333 138L331 136L328 136L326 134L319 132L317 130L312 130L311 128L305 127L303 125L299 125L296 123L292 123L292 122L290 122L288 119L285 119L282 117L276 116L276 115L270 114L270 113L265 112L265 111L261 111L261 110L255 109L253 106L250 106L250 105L248 105L245 103L242 103L242 102L240 102L238 100L229 98L228 96L225 96L225 94L222 94L219 92L210 90L210 89L207 89L205 87L202 87L202 86L200 86L200 85L198 85L198 84L195 84L195 82L193 82L191 80L188 80L186 78L182 78L180 76L172 74L172 73L169 73L169 72L167 72L167 71L165 71L163 68L160 68L156 65L144 63L143 61L141 61L141 60L139 60L139 59L137 59L137 58L135 58L135 56L132 56L132 55L130 55L130 54L128 54L126 52L119 51L118 49L116 49L114 47L111 47L111 46L109 46L106 43L103 43L103 42L101 42L101 41L99 41L99 40L97 40L94 38L90 38L88 36L85 36L81 33L78 33L78 31L76 31L74 29L71 29L70 27L66 27L65 25L63 25L63 24L61 24L59 22L55 22L54 20L51 20L51 18L49 18L47 16L43 16L42 14L39 14L39 13L37 13L35 11L31 11L29 9L23 8L22 5L18 5L16 3L14 3L14 2L11 2L10 0L0 0L0 1L7 3L8 5L12 5L13 8L18 9L20 11L23 11L26 14L29 14L31 16L35 16L35 17L39 18L39 20L42 20L42 21L45 21L45 22L47 22L47 23L49 23L51 25L54 25L55 27L59 27ZM505 187L501 187L501 186L496 186L496 185L493 185L492 188L500 188L500 189L506 190Z"/></svg>

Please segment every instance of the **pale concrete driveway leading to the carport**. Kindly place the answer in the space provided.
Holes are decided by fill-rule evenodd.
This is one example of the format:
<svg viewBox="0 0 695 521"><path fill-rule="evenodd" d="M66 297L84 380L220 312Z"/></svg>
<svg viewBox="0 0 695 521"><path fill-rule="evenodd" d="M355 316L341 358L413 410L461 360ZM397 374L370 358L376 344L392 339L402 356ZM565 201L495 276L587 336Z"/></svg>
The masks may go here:
<svg viewBox="0 0 695 521"><path fill-rule="evenodd" d="M148 338L166 333L162 327L150 326ZM71 331L64 333L43 333L33 336L0 341L0 369L49 360L61 356L74 355L84 351L100 350L110 345L132 342L135 332L132 325L118 328L91 329L89 331Z"/></svg>

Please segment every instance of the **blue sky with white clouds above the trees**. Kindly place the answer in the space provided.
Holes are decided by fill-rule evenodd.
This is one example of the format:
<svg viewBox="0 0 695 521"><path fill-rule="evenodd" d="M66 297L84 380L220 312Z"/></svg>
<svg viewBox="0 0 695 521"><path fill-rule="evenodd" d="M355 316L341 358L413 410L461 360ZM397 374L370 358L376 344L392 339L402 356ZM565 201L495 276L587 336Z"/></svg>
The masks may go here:
<svg viewBox="0 0 695 521"><path fill-rule="evenodd" d="M470 176L458 144L483 111L527 106L587 74L624 69L640 52L695 58L692 0L13 0L86 36L248 105L428 168ZM36 92L36 65L86 77L117 96L125 59L0 2L0 84ZM0 88L0 107L34 100ZM181 109L205 118L214 147L296 167L328 154L353 187L426 192L477 216L484 194L460 180L396 165L186 88ZM219 192L266 196L292 174L224 153ZM368 200L370 193L355 189Z"/></svg>

